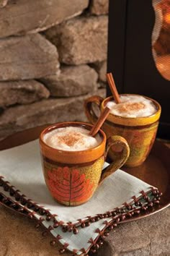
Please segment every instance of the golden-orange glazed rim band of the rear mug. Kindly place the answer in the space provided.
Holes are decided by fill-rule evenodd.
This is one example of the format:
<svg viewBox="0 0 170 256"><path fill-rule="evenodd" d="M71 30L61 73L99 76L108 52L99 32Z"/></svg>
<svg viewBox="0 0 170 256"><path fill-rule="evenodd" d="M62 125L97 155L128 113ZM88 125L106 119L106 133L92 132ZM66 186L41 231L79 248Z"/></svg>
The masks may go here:
<svg viewBox="0 0 170 256"><path fill-rule="evenodd" d="M109 116L107 116L108 121L114 122L115 124L122 124L122 125L125 125L125 126L136 127L136 126L143 126L143 125L147 125L147 124L153 124L156 121L158 121L158 119L160 118L160 116L161 116L161 105L158 103L158 101L153 100L153 98L149 98L145 95L134 94L134 93L122 93L120 95L143 96L143 98L146 98L146 99L152 101L154 103L154 105L156 106L157 110L151 116L142 116L142 117L126 117L126 116L118 116L118 115L109 113ZM102 110L106 106L106 103L108 101L110 101L111 99L113 99L113 96L109 96L109 97L105 98L104 101L102 101L102 104L101 104Z"/></svg>

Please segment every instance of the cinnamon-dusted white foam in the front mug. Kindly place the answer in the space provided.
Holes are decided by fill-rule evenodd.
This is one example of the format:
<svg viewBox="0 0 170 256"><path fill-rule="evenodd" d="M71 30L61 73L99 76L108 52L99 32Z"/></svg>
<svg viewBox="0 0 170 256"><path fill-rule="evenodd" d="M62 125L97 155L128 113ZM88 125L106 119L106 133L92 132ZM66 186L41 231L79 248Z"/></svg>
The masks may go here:
<svg viewBox="0 0 170 256"><path fill-rule="evenodd" d="M99 135L91 137L89 130L82 127L63 127L48 132L43 141L59 150L81 151L97 147L102 138Z"/></svg>

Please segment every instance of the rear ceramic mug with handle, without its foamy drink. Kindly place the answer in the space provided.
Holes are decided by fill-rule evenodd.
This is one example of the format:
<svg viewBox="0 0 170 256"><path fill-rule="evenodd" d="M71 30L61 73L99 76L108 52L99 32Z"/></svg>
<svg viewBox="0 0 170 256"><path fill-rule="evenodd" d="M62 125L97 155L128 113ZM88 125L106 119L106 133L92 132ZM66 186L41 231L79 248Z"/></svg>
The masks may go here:
<svg viewBox="0 0 170 256"><path fill-rule="evenodd" d="M102 126L102 129L106 133L107 137L112 135L120 135L127 140L128 145L130 146L130 156L125 165L130 167L139 166L141 163L143 163L143 161L146 160L148 153L153 146L158 129L158 119L161 115L161 106L153 99L148 97L145 98L152 101L156 106L155 114L135 118L109 114ZM113 101L113 98L108 97L103 99L99 96L92 96L91 98L86 99L84 103L86 116L92 124L97 121L97 115L95 114L93 103L95 103L99 107L100 111L102 111L109 101ZM111 148L108 155L109 158L114 161L117 154L113 153Z"/></svg>

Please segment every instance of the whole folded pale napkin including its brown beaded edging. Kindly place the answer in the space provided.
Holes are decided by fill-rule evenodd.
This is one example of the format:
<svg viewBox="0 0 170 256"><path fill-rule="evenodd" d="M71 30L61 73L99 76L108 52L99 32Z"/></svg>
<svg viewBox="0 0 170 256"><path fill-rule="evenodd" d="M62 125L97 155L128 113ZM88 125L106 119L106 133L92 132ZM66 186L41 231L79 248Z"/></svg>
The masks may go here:
<svg viewBox="0 0 170 256"><path fill-rule="evenodd" d="M96 252L117 223L158 203L158 189L117 170L104 180L84 205L66 207L50 196L45 185L38 141L0 152L0 201L37 220L73 255ZM104 168L108 163L104 163ZM19 189L19 190L18 190Z"/></svg>

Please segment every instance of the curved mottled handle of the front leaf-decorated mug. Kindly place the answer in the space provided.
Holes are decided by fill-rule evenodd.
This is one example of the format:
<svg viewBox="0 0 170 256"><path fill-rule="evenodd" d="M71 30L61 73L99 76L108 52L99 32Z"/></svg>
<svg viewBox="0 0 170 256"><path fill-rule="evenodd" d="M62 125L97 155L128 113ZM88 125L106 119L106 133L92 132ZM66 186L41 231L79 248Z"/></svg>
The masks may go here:
<svg viewBox="0 0 170 256"><path fill-rule="evenodd" d="M112 146L122 146L122 152L121 155L118 155L115 161L109 164L104 170L102 171L102 176L99 180L99 184L103 182L104 179L107 178L110 174L113 174L117 169L119 169L123 164L128 160L128 157L130 155L130 148L128 145L128 142L121 136L115 135L109 137L107 140L107 146L106 146L106 153L105 153L105 158L107 157L107 153L109 151L109 148Z"/></svg>

